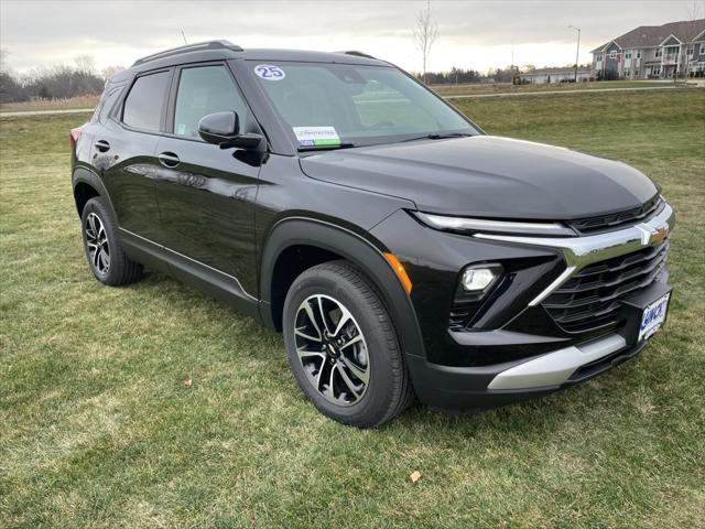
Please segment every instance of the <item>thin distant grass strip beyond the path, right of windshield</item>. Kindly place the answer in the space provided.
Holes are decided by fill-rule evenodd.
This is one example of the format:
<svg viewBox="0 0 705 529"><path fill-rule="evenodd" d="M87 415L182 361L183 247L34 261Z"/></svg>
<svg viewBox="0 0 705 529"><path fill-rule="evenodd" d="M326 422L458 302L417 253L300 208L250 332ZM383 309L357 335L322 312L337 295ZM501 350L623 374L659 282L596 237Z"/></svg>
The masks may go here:
<svg viewBox="0 0 705 529"><path fill-rule="evenodd" d="M679 80L682 85L683 80ZM536 85L512 85L511 83L468 83L460 85L432 85L436 93L445 97L482 94L521 94L525 91L571 91L592 90L595 88L646 88L672 86L673 82L660 80L593 80L589 83L558 83Z"/></svg>

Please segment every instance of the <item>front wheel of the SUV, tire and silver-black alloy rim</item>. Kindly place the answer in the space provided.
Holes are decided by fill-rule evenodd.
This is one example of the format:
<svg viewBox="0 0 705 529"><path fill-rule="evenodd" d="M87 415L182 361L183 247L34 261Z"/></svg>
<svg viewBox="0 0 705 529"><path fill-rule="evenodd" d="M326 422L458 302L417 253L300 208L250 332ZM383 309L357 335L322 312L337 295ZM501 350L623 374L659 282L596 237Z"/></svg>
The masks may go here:
<svg viewBox="0 0 705 529"><path fill-rule="evenodd" d="M411 403L391 317L376 288L347 261L325 262L296 278L284 301L283 334L299 386L330 419L371 428Z"/></svg>

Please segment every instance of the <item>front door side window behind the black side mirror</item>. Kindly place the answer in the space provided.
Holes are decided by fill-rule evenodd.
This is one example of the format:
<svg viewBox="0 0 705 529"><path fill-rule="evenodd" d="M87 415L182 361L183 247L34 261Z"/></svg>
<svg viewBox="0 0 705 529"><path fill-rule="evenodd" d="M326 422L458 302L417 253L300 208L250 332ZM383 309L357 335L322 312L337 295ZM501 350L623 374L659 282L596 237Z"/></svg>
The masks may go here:
<svg viewBox="0 0 705 529"><path fill-rule="evenodd" d="M208 114L234 110L240 126L247 120L247 105L225 66L184 68L178 80L174 133L198 138L198 121Z"/></svg>

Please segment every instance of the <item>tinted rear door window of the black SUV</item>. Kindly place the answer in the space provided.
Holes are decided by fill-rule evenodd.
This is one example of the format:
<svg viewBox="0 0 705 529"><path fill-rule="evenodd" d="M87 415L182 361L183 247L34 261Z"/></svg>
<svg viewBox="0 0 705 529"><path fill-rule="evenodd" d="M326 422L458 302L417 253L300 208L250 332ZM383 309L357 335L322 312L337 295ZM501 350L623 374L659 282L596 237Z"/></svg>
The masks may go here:
<svg viewBox="0 0 705 529"><path fill-rule="evenodd" d="M169 72L139 77L124 100L122 121L137 129L159 130Z"/></svg>

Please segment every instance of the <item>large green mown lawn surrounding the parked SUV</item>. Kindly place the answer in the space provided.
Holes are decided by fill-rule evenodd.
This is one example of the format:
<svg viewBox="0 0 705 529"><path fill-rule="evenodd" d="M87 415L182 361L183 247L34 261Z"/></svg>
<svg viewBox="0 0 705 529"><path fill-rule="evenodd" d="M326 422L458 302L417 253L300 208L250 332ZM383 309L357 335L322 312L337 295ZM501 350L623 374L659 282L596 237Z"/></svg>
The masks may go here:
<svg viewBox="0 0 705 529"><path fill-rule="evenodd" d="M703 527L705 90L459 108L663 186L675 294L641 355L477 415L338 425L304 400L281 336L160 274L95 281L69 183L85 117L3 119L0 527Z"/></svg>

